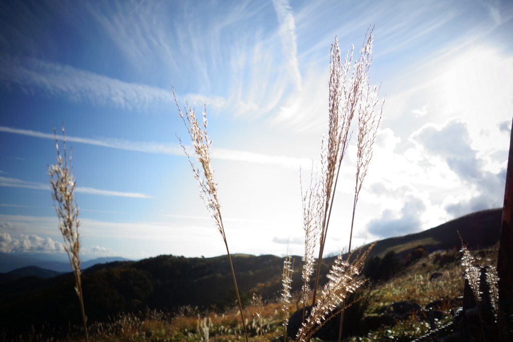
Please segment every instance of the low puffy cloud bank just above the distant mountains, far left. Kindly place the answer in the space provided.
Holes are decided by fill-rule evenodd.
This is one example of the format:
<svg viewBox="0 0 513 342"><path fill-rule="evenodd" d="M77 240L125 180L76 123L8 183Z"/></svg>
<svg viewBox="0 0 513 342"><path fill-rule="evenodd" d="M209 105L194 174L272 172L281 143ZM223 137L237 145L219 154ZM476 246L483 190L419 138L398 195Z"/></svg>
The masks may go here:
<svg viewBox="0 0 513 342"><path fill-rule="evenodd" d="M19 239L13 238L11 234L0 233L0 252L63 252L64 245L52 240L50 237L43 238L35 234L20 234Z"/></svg>

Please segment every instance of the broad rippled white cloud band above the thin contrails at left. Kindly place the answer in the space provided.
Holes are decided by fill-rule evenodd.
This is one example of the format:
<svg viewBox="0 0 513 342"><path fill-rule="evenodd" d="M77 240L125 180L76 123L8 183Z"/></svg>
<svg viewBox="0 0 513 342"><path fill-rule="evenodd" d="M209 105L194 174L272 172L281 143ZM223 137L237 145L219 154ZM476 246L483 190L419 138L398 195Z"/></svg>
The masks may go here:
<svg viewBox="0 0 513 342"><path fill-rule="evenodd" d="M68 65L50 63L35 58L19 58L0 54L0 85L19 88L27 93L42 93L49 97L61 97L71 102L90 103L134 111L169 108L172 93L169 90L144 84L127 83L119 79L98 75ZM223 98L190 94L201 104L217 108L223 106Z"/></svg>

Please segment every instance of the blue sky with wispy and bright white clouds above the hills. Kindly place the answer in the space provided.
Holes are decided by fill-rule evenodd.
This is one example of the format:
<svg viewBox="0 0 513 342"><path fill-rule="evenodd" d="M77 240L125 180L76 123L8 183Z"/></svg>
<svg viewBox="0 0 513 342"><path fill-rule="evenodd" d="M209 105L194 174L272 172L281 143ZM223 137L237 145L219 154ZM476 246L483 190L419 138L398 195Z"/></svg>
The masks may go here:
<svg viewBox="0 0 513 342"><path fill-rule="evenodd" d="M225 254L172 85L180 106L206 103L230 251L301 254L300 167L326 132L329 48L337 36L358 51L371 25L387 99L356 245L502 206L512 2L3 1L0 16L1 252L62 252L47 168L64 123L85 258ZM328 253L348 245L355 155Z"/></svg>

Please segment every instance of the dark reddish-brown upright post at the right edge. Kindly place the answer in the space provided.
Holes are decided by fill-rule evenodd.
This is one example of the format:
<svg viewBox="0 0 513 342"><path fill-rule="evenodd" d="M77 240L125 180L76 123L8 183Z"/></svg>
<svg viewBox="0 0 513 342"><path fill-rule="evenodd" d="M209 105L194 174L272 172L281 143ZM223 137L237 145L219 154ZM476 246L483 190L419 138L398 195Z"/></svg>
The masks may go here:
<svg viewBox="0 0 513 342"><path fill-rule="evenodd" d="M499 298L504 302L511 299L513 294L513 134L509 138L497 273L499 273Z"/></svg>

